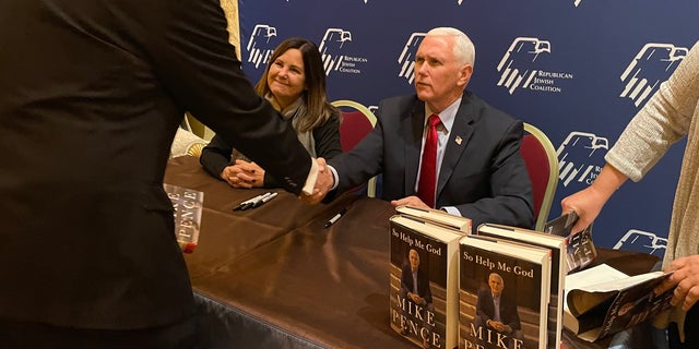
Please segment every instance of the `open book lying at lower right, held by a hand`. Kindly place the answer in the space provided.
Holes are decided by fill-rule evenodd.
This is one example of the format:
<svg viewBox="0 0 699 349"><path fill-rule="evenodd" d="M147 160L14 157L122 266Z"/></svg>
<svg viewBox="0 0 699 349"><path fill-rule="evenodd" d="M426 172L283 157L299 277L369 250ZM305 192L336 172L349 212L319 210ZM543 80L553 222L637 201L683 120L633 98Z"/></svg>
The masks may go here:
<svg viewBox="0 0 699 349"><path fill-rule="evenodd" d="M600 276L601 270L596 272ZM569 314L564 325L588 341L632 327L671 306L673 289L662 294L653 292L666 277L670 274L663 272L615 275L608 281L569 289L566 296Z"/></svg>

